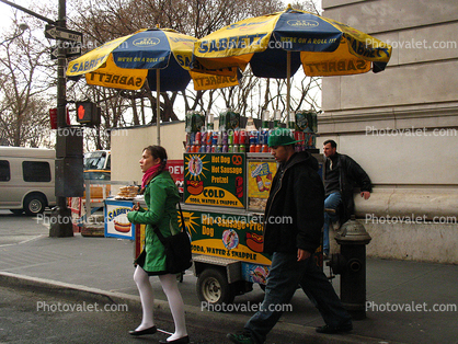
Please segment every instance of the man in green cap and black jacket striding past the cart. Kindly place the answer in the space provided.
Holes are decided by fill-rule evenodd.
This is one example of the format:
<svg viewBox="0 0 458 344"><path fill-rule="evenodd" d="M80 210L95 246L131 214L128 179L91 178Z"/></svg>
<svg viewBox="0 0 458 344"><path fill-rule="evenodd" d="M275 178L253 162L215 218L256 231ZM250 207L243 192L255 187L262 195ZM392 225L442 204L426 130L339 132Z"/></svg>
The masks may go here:
<svg viewBox="0 0 458 344"><path fill-rule="evenodd" d="M264 252L272 254L272 265L260 311L244 331L227 335L232 343L264 343L299 285L325 322L317 332L353 329L350 314L312 257L320 245L324 188L317 159L295 152L295 142L288 129L275 129L268 137L271 153L279 163L264 214Z"/></svg>

